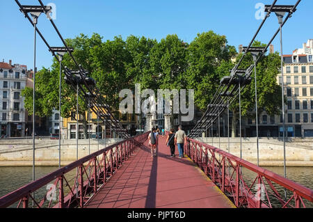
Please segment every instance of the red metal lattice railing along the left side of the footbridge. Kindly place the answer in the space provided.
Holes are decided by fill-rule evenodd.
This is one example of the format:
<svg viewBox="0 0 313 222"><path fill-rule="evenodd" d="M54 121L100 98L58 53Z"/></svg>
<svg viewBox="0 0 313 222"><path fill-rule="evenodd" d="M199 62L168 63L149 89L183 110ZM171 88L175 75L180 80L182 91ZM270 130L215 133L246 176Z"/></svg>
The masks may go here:
<svg viewBox="0 0 313 222"><path fill-rule="evenodd" d="M17 208L83 208L118 171L134 149L147 139L147 134L110 145L8 193L0 198L0 208L15 205Z"/></svg>

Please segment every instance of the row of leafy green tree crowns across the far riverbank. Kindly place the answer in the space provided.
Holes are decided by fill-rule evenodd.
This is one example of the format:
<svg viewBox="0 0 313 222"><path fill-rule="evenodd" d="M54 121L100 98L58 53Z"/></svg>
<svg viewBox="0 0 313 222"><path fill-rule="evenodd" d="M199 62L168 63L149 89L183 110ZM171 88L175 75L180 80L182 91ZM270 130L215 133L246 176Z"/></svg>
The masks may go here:
<svg viewBox="0 0 313 222"><path fill-rule="evenodd" d="M240 58L233 46L227 45L225 35L214 31L198 33L189 43L177 35L167 35L159 41L155 39L130 35L123 40L116 36L113 40L103 40L94 33L91 37L79 35L67 39L67 45L74 47L73 56L90 77L97 82L100 92L112 109L118 110L119 92L124 88L134 89L135 84L141 88L157 89L194 89L195 106L202 111L207 108L220 79L229 75L234 66L234 58ZM259 46L260 42L255 42ZM248 68L252 56L246 56L241 68ZM65 54L63 65L77 69L70 56ZM280 66L278 53L268 54L257 65L257 84L259 109L269 114L278 114L280 106L280 86L276 75ZM42 68L36 74L36 115L51 116L51 111L58 108L58 71L59 63L54 58L51 69ZM63 79L63 78L62 78ZM252 80L254 81L254 80ZM61 116L70 117L76 111L76 92L62 83ZM26 98L25 107L33 109L31 88L25 88L22 95ZM250 84L242 93L242 113L245 115L255 104L254 84ZM235 102L236 103L236 102ZM236 104L232 106L236 112ZM79 113L84 114L87 105L80 101Z"/></svg>

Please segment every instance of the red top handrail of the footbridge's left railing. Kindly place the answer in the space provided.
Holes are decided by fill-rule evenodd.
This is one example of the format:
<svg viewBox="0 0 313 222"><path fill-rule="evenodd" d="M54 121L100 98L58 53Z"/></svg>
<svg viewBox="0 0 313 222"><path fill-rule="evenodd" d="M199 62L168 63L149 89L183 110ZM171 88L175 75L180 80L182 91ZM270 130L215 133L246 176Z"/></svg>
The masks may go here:
<svg viewBox="0 0 313 222"><path fill-rule="evenodd" d="M97 157L99 157L102 154L106 154L107 152L111 152L111 154L113 154L114 148L120 149L123 147L123 145L125 148L125 146L129 143L135 144L134 141L142 142L146 138L147 138L147 133L141 134L141 135L138 135L138 136L135 136L132 138L127 138L124 141L120 141L119 143L115 143L113 145L110 145L109 147L106 147L102 150L94 152L93 154L90 154L86 157L83 157L77 161L74 161L72 164L64 166L63 168L60 168L57 171L54 171L53 173L50 173L49 175L46 175L46 176L40 178L39 180L35 180L34 182L31 182L31 183L25 185L24 187L21 187L21 188L15 190L13 192L8 193L6 196L1 197L0 198L0 208L9 207L10 205L13 205L13 203L16 203L19 200L21 201L23 198L28 199L29 196L31 195L31 193L38 191L38 189L44 187L46 184L48 184L52 180L56 180L56 179L58 180L58 178L63 177L66 173L74 170L75 168L80 168L81 166L83 166L83 164L86 164L88 161L93 161L93 160L97 159ZM122 151L123 151L122 149L118 150L118 152L121 152L121 153L122 153ZM132 151L133 151L133 149L127 150L127 152L124 150L124 152L125 152L124 153L125 154L124 159L122 158L122 156L118 156L118 154L116 154L117 161L115 161L115 159L111 159L111 167L113 165L115 165L116 166L115 168L118 169L118 164L122 164L122 161L125 161L126 157L128 157L129 153ZM115 153L116 152L117 151L115 151ZM106 156L104 157L104 159L105 158L106 158ZM94 164L95 164L95 166L97 166L97 161L95 161ZM104 170L106 170L106 169L104 169ZM97 169L96 174L99 175L101 173L104 173L103 171L101 171L101 169ZM111 173L113 173L113 171L114 171L114 169L111 169ZM106 180L106 176L104 176L104 180ZM72 193L72 194L74 194L74 193Z"/></svg>

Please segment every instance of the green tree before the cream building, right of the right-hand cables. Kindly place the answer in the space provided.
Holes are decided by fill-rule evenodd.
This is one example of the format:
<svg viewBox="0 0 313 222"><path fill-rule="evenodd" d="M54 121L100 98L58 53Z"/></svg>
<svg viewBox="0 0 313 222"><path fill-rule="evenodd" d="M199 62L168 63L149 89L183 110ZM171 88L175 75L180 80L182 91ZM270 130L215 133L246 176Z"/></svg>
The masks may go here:
<svg viewBox="0 0 313 222"><path fill-rule="evenodd" d="M266 45L259 41L253 43L254 47L264 47ZM239 54L237 61L243 56ZM253 64L253 59L250 54L247 54L243 59L239 69L246 69ZM226 69L230 69L227 67ZM278 52L272 54L266 54L257 63L257 109L258 114L262 111L266 111L268 115L280 114L282 104L282 88L277 83L277 74L280 70L280 55ZM224 70L225 72L226 70ZM229 73L227 74L229 75ZM241 115L246 117L255 118L255 74L254 70L251 74L251 84L246 86L241 91ZM230 110L233 113L232 118L232 137L235 136L236 123L239 119L239 100L235 100L230 106Z"/></svg>

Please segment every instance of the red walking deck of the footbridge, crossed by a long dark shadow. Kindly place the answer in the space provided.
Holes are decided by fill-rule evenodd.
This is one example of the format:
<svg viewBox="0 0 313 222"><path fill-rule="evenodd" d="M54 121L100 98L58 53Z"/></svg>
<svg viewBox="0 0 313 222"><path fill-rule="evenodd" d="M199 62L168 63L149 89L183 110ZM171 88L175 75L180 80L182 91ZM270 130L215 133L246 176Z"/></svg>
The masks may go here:
<svg viewBox="0 0 313 222"><path fill-rule="evenodd" d="M160 136L158 157L154 158L145 142L86 207L235 207L191 159L170 158L165 141L166 136Z"/></svg>

